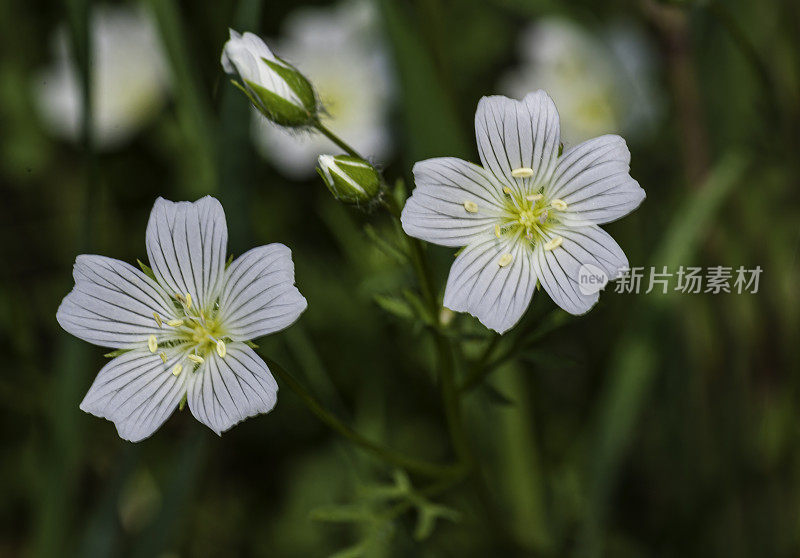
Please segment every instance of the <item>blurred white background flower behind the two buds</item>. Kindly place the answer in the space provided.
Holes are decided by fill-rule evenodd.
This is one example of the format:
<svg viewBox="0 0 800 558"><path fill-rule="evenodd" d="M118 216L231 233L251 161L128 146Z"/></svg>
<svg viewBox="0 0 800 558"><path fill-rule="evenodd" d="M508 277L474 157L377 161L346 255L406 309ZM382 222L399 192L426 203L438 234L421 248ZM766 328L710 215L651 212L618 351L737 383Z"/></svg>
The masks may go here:
<svg viewBox="0 0 800 558"><path fill-rule="evenodd" d="M314 85L337 135L364 156L381 159L390 148L389 68L369 2L308 8L286 21L274 51ZM317 158L334 147L320 134L296 134L275 126L255 109L253 135L259 152L290 178L315 172Z"/></svg>

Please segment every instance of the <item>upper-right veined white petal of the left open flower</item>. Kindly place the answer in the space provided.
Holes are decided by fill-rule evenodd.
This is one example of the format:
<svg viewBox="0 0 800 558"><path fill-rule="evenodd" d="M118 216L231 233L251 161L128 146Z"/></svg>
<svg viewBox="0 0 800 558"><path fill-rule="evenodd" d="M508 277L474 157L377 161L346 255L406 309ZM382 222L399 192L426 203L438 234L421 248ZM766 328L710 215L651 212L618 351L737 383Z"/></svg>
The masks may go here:
<svg viewBox="0 0 800 558"><path fill-rule="evenodd" d="M238 341L293 324L307 303L294 286L291 250L269 244L242 254L225 272L219 306L226 332Z"/></svg>

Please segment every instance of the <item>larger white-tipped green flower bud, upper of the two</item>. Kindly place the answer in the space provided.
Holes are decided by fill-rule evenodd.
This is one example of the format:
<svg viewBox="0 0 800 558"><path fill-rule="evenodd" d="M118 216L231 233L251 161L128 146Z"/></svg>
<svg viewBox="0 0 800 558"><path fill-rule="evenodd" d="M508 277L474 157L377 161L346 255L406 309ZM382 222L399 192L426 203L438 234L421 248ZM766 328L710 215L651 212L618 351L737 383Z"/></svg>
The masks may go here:
<svg viewBox="0 0 800 558"><path fill-rule="evenodd" d="M253 33L233 29L222 49L222 67L261 113L281 126L311 124L319 104L314 88L297 69L275 56Z"/></svg>

